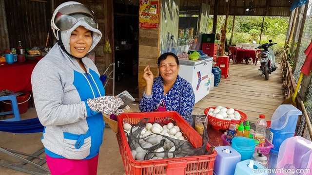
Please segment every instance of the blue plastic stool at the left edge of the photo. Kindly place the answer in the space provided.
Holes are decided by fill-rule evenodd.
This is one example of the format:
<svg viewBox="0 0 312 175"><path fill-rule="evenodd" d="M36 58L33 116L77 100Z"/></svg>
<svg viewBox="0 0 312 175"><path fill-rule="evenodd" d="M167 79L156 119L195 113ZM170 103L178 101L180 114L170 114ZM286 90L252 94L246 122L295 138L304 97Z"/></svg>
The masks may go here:
<svg viewBox="0 0 312 175"><path fill-rule="evenodd" d="M10 100L11 101L12 111L0 112L0 115L14 114L14 118L5 119L5 120L1 120L1 121L5 121L5 122L20 121L20 111L19 111L19 106L18 106L18 102L16 100L15 94L11 93L11 94L6 95L6 96L0 96L0 101L4 101L4 100Z"/></svg>

